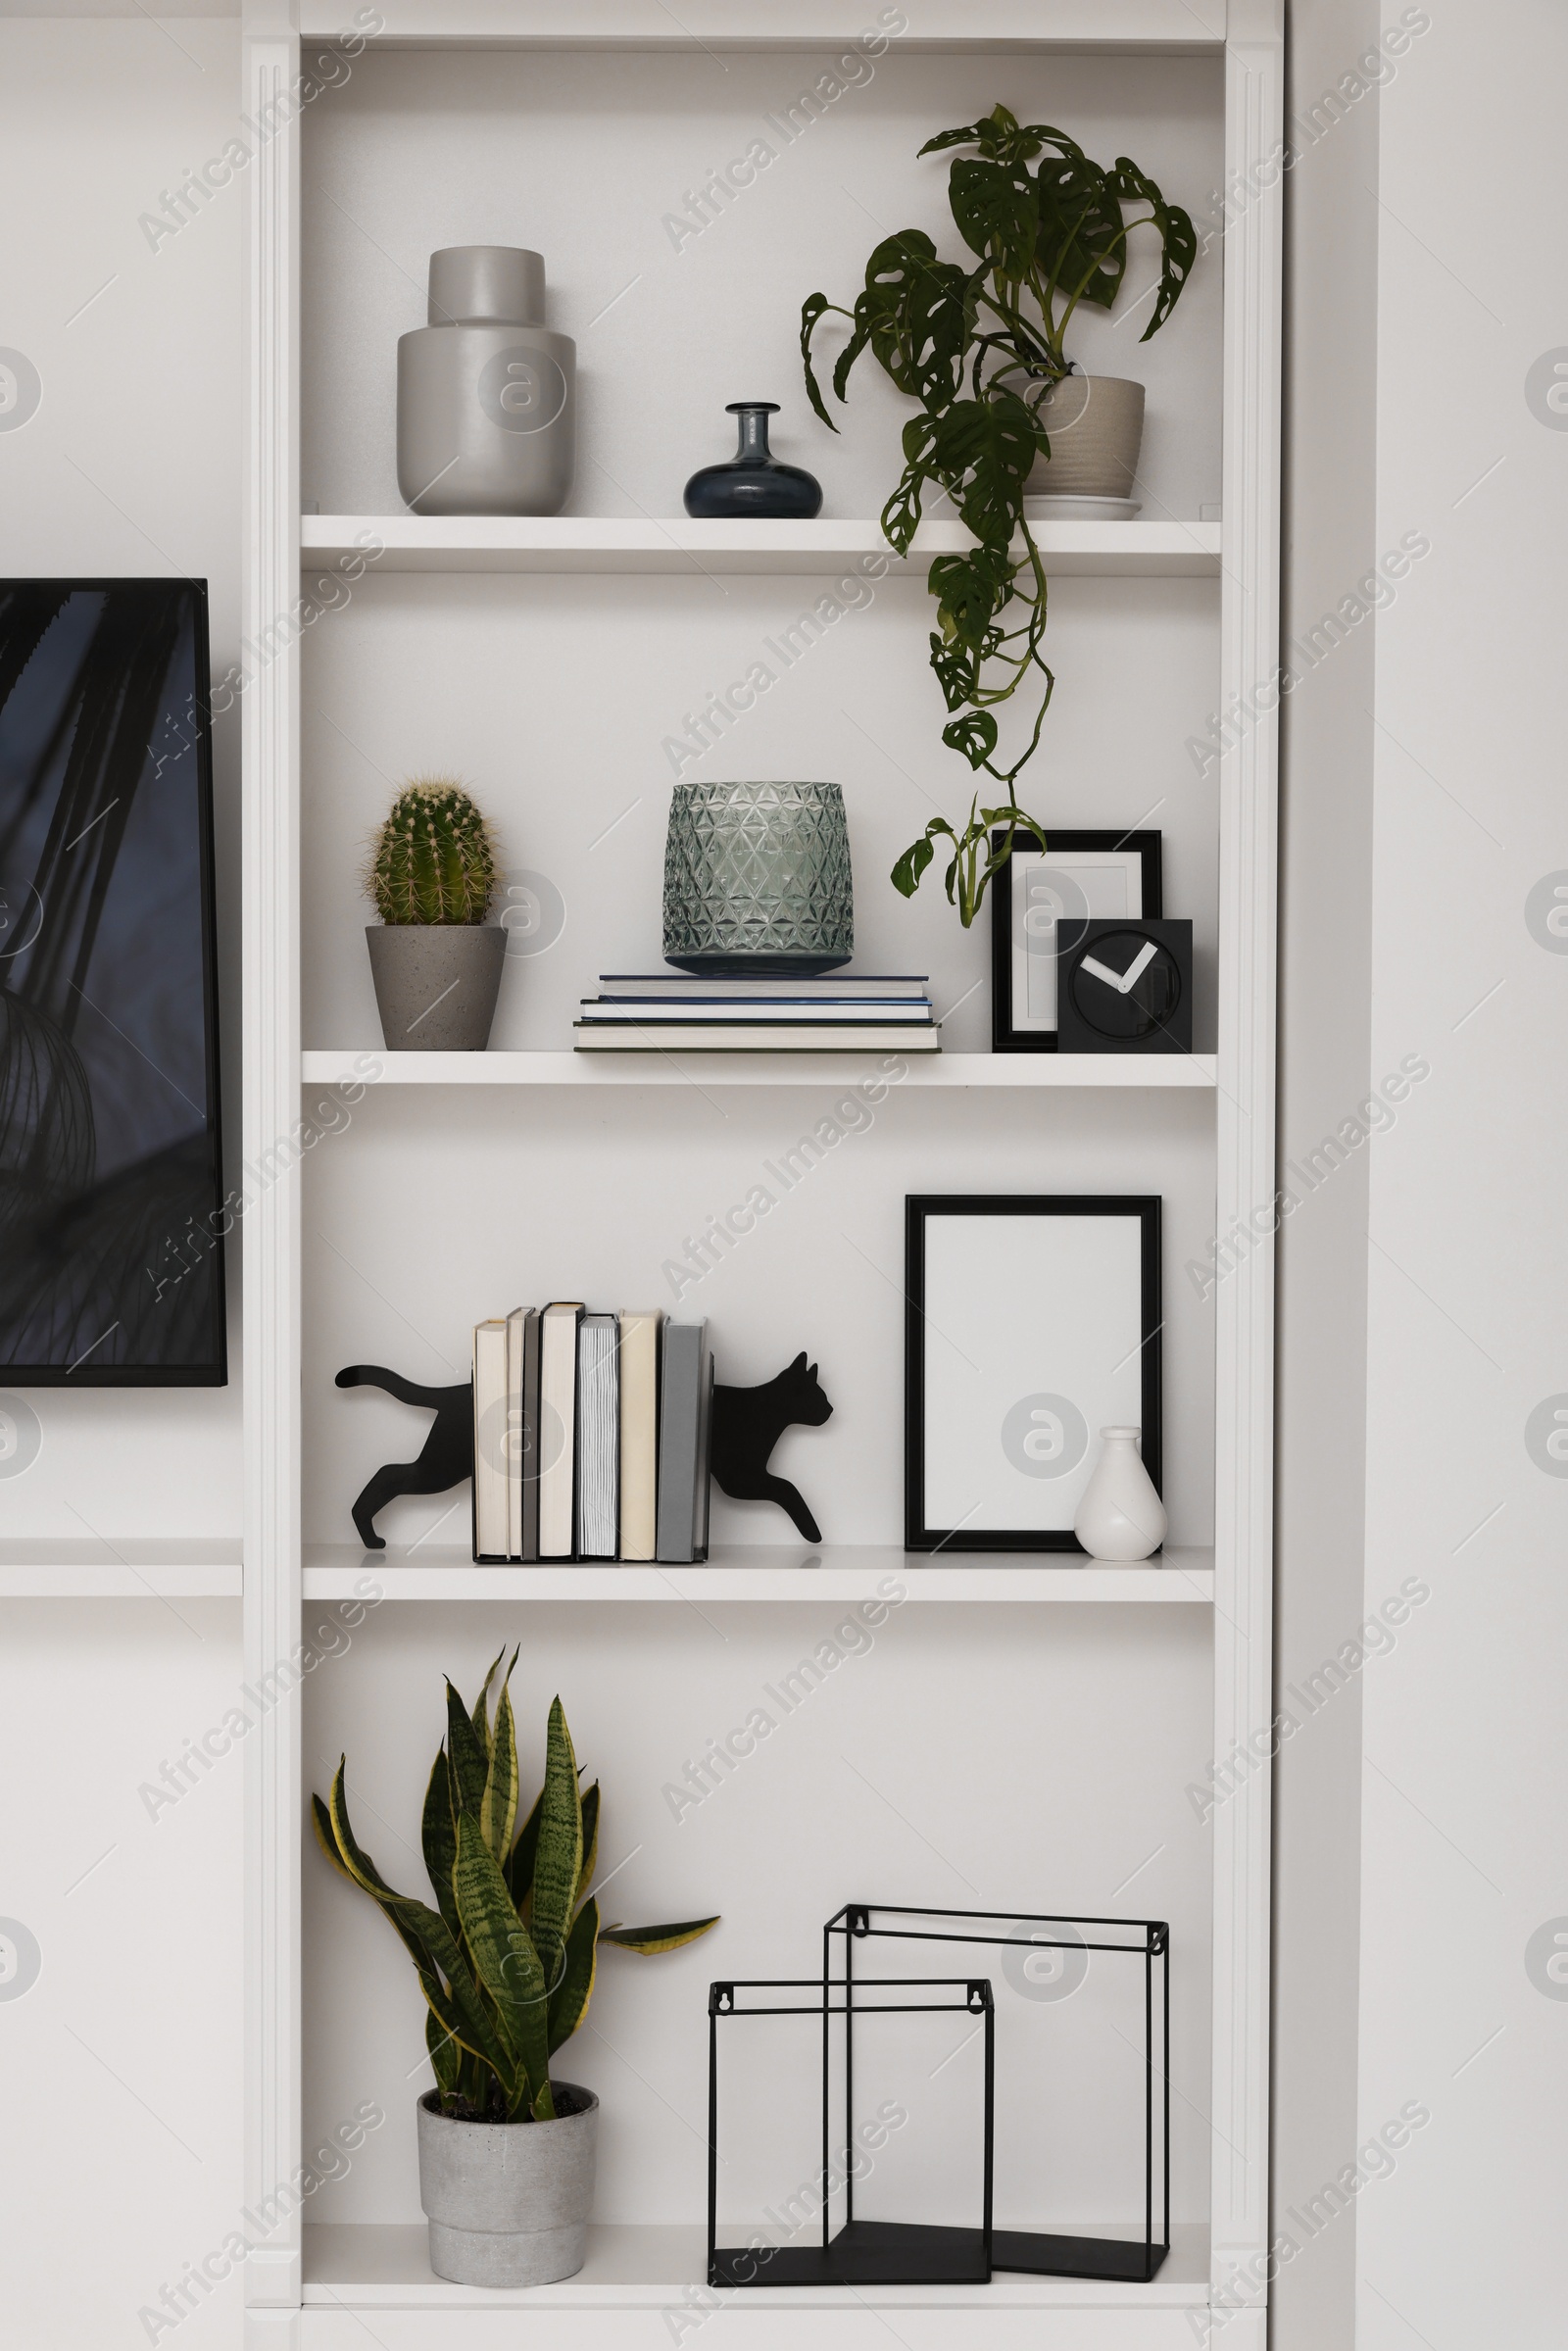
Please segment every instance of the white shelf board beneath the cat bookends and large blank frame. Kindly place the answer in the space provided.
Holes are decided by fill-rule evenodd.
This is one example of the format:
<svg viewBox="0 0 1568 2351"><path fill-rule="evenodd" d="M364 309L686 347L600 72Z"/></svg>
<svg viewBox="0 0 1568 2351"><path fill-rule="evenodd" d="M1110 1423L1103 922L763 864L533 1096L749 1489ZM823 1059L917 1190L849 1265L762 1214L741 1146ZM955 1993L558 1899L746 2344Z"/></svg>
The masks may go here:
<svg viewBox="0 0 1568 2351"><path fill-rule="evenodd" d="M1077 1552L950 1552L924 1559L891 1542L724 1545L701 1568L574 1563L482 1568L458 1545L308 1542L308 1601L865 1601L896 1578L912 1601L1213 1601L1213 1552L1161 1552L1135 1568ZM884 1592L886 1596L886 1592Z"/></svg>

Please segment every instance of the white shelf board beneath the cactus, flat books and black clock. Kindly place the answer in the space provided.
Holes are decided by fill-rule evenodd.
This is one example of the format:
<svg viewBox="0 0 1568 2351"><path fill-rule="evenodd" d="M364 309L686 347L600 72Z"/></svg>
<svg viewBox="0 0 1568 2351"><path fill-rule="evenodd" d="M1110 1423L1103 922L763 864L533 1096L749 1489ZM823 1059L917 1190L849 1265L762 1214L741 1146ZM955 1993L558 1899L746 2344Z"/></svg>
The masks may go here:
<svg viewBox="0 0 1568 2351"><path fill-rule="evenodd" d="M820 1086L877 1053L301 1053L306 1086ZM378 1077L364 1074L364 1063ZM907 1053L898 1086L1215 1086L1213 1053Z"/></svg>

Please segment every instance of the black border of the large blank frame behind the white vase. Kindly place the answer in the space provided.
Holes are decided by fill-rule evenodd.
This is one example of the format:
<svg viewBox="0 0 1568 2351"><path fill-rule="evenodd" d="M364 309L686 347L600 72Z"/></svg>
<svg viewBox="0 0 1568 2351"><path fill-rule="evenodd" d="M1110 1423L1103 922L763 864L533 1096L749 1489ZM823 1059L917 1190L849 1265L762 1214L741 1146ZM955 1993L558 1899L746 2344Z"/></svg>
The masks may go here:
<svg viewBox="0 0 1568 2351"><path fill-rule="evenodd" d="M926 1251L933 1218L1126 1215L1138 1225L1138 1427L1143 1465L1161 1488L1161 1199L1157 1192L910 1192L905 1197L905 1552L1077 1552L1072 1526L931 1526L926 1519ZM978 1237L976 1284L1006 1286ZM1128 1333L1121 1333L1131 1335ZM1117 1342L1121 1342L1121 1338ZM1126 1357L1124 1357L1126 1359ZM1086 1446L1095 1429L1086 1422ZM1001 1453L1001 1446L997 1448ZM1074 1455L1084 1460L1086 1455Z"/></svg>

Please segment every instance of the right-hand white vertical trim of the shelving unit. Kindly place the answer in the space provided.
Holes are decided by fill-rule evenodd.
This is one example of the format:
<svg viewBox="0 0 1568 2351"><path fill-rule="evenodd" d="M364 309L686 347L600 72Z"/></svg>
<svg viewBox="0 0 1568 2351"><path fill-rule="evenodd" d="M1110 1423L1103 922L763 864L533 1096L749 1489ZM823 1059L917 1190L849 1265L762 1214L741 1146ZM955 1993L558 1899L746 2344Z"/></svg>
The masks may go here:
<svg viewBox="0 0 1568 2351"><path fill-rule="evenodd" d="M1279 661L1284 0L1232 0L1225 183L1225 550L1220 710ZM1255 193L1251 193L1255 188ZM1220 759L1218 1232L1274 1199L1276 715ZM1173 1277L1180 1274L1173 1267ZM1274 1248L1215 1288L1215 1759L1272 1716ZM1269 1773L1213 1813L1213 2283L1262 2259L1269 2224ZM1237 2330L1241 2320L1237 2323ZM1229 2330L1227 2337L1229 2342ZM1241 2344L1237 2344L1241 2351Z"/></svg>

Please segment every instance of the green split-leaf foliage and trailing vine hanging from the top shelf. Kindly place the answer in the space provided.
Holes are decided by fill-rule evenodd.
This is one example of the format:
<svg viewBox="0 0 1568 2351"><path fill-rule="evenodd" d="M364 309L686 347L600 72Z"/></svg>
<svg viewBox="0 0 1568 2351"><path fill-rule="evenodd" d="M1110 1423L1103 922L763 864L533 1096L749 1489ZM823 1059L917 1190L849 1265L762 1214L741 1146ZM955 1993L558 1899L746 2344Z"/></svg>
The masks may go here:
<svg viewBox="0 0 1568 2351"><path fill-rule="evenodd" d="M1114 306L1131 230L1152 226L1159 233L1159 284L1145 343L1180 299L1197 259L1197 235L1187 214L1168 205L1131 158L1119 155L1105 169L1065 132L1048 122L1020 125L1006 106L994 106L980 122L938 132L919 153L945 148L973 150L957 155L947 176L952 221L973 261L943 261L922 228L903 228L872 252L853 308L844 310L825 294L806 299L799 348L811 407L832 433L837 426L813 367L823 317L849 320L849 341L832 369L839 400L849 397L856 360L870 350L891 383L919 402L919 414L903 428L905 465L882 510L882 529L907 555L926 498L945 494L973 534L969 552L938 555L929 571L936 597L931 668L950 712L943 743L961 752L971 769L1009 785L1011 799L1039 745L1053 686L1041 654L1046 571L1023 513L1030 470L1051 454L1041 402L1072 371L1067 329L1079 303ZM994 710L1030 677L1039 691L1034 726L1013 764L999 766ZM1016 813L999 811L1001 820ZM1039 837L1039 828L1025 823ZM896 882L919 846L898 860ZM929 842L924 846L929 860ZM980 875L969 912L959 893L964 924L973 919L992 870L987 865ZM907 893L917 882L919 868L898 886ZM952 868L947 896L954 896Z"/></svg>

